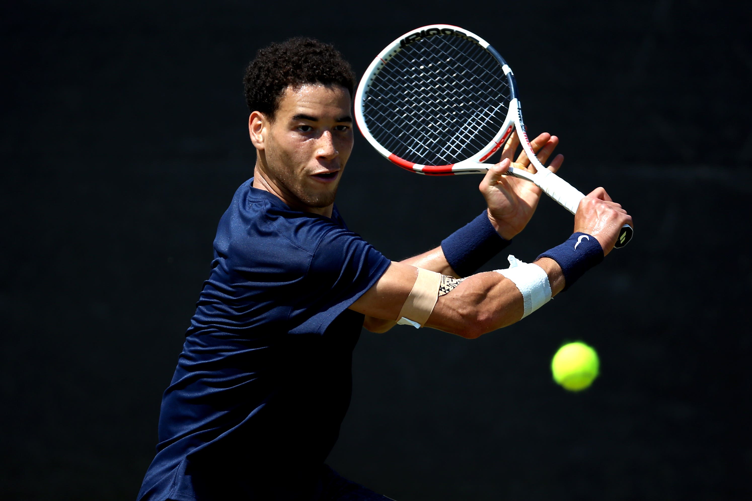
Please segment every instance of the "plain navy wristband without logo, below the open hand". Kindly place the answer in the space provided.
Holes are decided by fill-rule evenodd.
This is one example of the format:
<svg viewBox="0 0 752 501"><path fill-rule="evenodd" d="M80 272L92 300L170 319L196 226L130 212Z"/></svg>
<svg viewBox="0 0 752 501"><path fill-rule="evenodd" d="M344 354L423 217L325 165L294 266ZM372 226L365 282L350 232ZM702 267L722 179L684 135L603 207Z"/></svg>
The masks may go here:
<svg viewBox="0 0 752 501"><path fill-rule="evenodd" d="M459 276L469 276L510 243L511 240L504 240L496 233L484 210L480 216L441 240L441 250Z"/></svg>

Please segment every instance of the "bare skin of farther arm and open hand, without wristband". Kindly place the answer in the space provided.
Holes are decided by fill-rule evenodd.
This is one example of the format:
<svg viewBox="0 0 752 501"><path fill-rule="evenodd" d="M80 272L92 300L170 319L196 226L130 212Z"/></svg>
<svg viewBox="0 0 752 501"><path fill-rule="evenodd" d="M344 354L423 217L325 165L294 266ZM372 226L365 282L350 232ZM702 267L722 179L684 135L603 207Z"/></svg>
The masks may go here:
<svg viewBox="0 0 752 501"><path fill-rule="evenodd" d="M558 137L544 132L532 140L530 144L538 159L544 164L553 153L553 150L556 149L558 143ZM478 189L486 200L486 214L489 222L496 233L499 234L499 237L504 240L511 240L525 228L532 218L533 213L535 213L535 208L538 207L538 201L542 194L541 189L529 181L504 176L519 146L520 140L517 138L517 134L511 134L511 137L509 137L502 150L501 161L489 169L478 186ZM564 161L563 155L556 155L548 169L551 172L558 171L562 161ZM517 161L514 162L514 168L525 169L526 171L535 173L535 168L530 163L524 151L520 153ZM435 271L442 275L462 278L450 265L441 246L399 262ZM370 316L366 316L365 321L363 321L363 327L377 333L386 332L395 325L396 321Z"/></svg>

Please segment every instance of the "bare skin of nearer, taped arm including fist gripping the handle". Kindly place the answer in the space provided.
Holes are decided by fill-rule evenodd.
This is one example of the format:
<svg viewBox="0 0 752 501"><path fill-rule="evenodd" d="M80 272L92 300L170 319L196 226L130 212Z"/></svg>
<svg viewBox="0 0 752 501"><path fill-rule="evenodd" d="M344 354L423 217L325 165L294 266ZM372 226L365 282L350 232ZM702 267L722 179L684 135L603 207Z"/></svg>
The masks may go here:
<svg viewBox="0 0 752 501"><path fill-rule="evenodd" d="M611 201L602 188L584 198L575 215L575 232L595 237L604 255L614 248L624 224L632 225L631 216ZM439 271L436 265L441 265L440 251L441 247L408 262L393 262L384 276L350 306L370 317L365 323L368 330L388 330L399 320L402 305L417 279L417 267ZM547 274L552 297L562 291L565 277L556 261L541 258L534 264ZM439 273L453 275L444 273L451 271L448 263L447 267ZM522 317L523 294L517 285L501 273L487 272L468 276L448 294L438 297L426 325L472 339L513 324Z"/></svg>

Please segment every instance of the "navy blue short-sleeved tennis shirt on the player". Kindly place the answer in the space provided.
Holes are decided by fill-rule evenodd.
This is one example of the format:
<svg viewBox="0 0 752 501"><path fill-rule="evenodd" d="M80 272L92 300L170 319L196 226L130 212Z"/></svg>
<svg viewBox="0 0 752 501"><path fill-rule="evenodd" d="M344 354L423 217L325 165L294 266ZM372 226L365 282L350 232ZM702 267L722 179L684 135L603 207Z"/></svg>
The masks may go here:
<svg viewBox="0 0 752 501"><path fill-rule="evenodd" d="M311 499L350 405L363 315L390 261L332 218L246 181L162 397L138 499Z"/></svg>

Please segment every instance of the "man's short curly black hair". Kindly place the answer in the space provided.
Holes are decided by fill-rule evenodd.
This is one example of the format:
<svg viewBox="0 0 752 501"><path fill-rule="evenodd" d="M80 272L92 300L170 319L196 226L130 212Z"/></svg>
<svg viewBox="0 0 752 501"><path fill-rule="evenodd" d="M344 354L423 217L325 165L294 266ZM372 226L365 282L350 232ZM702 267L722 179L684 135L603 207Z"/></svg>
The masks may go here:
<svg viewBox="0 0 752 501"><path fill-rule="evenodd" d="M274 119L287 86L306 83L337 84L355 89L355 74L341 53L330 44L314 38L290 38L256 52L243 78L245 100L250 111L260 111Z"/></svg>

